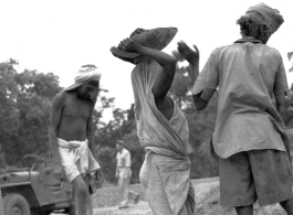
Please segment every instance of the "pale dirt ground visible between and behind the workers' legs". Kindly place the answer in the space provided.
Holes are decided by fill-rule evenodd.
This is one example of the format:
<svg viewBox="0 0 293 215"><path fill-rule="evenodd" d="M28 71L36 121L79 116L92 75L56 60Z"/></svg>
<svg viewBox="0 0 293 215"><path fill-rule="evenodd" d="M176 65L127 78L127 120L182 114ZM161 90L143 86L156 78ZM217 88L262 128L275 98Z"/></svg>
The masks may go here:
<svg viewBox="0 0 293 215"><path fill-rule="evenodd" d="M197 215L237 215L233 208L222 208L219 203L218 178L192 180L196 190ZM130 190L140 192L139 184L132 185ZM117 187L100 189L93 195L94 215L153 215L143 194L137 204L130 204L128 208L118 208ZM276 204L266 207L254 205L254 215L285 215L286 213Z"/></svg>

